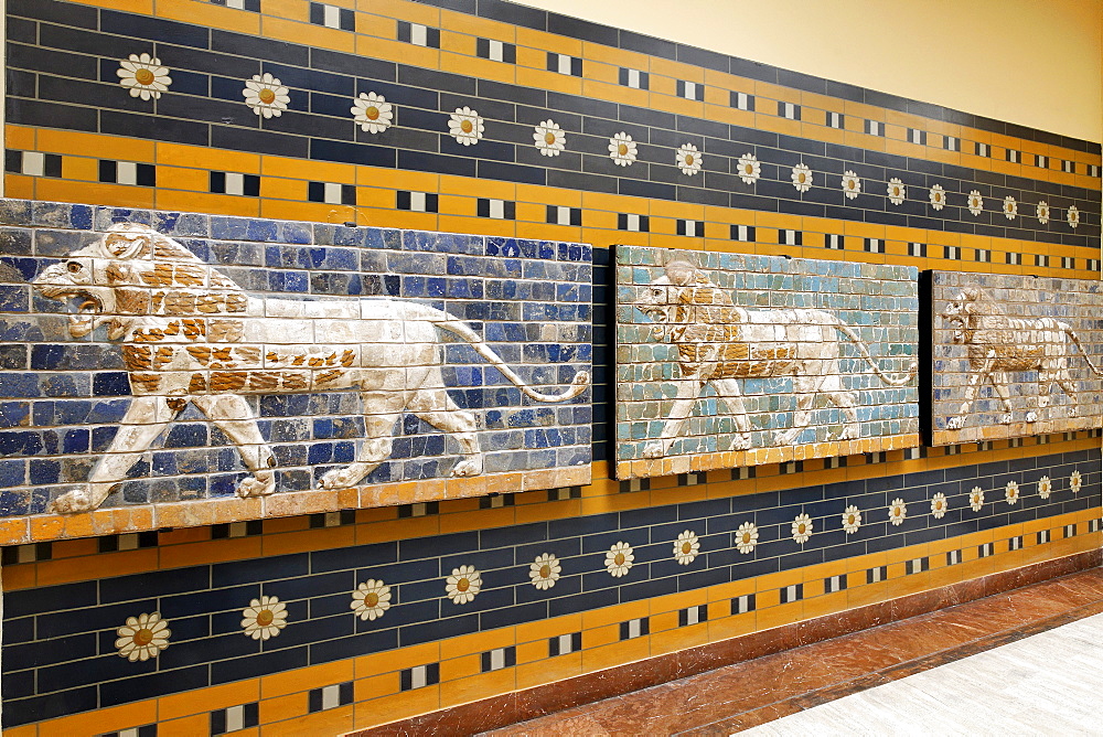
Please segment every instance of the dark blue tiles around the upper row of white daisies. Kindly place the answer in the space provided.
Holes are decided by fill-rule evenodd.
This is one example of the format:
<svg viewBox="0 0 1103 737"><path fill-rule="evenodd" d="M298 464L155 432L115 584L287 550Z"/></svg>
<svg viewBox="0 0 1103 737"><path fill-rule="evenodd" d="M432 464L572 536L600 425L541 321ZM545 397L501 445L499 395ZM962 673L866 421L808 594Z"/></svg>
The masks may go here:
<svg viewBox="0 0 1103 737"><path fill-rule="evenodd" d="M60 50L43 55L40 46L10 45L10 65L39 76L36 85L25 86L26 94L38 99L18 99L11 116L14 122L77 129L86 129L87 125L96 129L98 125L106 133L257 153L1065 245L1088 245L1099 234L1097 203L1082 188L484 83L401 64L392 65L396 71L382 77L370 76L371 70L356 67L352 61L345 65L356 70L352 74L300 68L278 61L278 45L258 50L265 53L254 60L237 57L237 66L245 64L247 68L238 70L242 76L231 77L205 71L235 67L223 65L216 52L159 42L162 63L182 83L194 79L196 84L178 84L174 76L170 93L143 103L126 94L117 84L115 67L107 62L104 64L110 68L98 71L100 82L89 81L86 89L78 88L66 72L79 67L83 54L93 53L88 50L118 43L117 38L69 29L47 41ZM236 52L246 54L247 50ZM216 55L203 58L204 54ZM196 71L178 71L181 67ZM264 121L253 115L240 95L242 79L261 68L292 89L290 109ZM55 76L63 74L65 79ZM53 85L51 81L55 79L60 84ZM378 135L361 131L352 125L347 111L349 99L368 90L384 94L397 106L395 126ZM11 94L19 94L19 89ZM98 124L87 118L85 106L89 99L96 99L101 108ZM478 109L486 119L486 137L473 147L461 147L447 135L447 115L463 105ZM116 109L108 109L111 107ZM539 156L532 143L532 127L548 117L568 133L568 151L552 159ZM113 127L105 128L105 122ZM630 168L617 167L608 157L608 138L621 130L638 142L638 160ZM687 141L705 152L704 171L693 179L684 177L673 163L673 150ZM740 182L736 172L738 157L746 152L754 153L762 162L762 178L753 186ZM815 184L805 194L797 193L790 181L791 168L801 161L815 172ZM863 179L863 194L854 201L845 200L835 181L845 170ZM908 188L911 199L900 206L890 205L885 194L885 182L890 177L899 177ZM927 200L935 183L947 191L949 205L941 212ZM986 201L987 210L978 217L964 206L972 190L978 190ZM999 212L1003 197L1008 195L1015 196L1024 213L1014 222ZM1028 212L1042 199L1054 213L1046 225ZM1063 217L1071 204L1083 213L1082 224L1075 229Z"/></svg>

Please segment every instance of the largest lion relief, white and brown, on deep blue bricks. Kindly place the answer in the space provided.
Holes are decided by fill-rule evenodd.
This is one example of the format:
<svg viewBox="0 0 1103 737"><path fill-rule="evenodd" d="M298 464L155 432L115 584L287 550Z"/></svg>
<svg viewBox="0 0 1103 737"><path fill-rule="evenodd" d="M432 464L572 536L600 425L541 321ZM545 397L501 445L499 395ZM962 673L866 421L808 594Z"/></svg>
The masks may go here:
<svg viewBox="0 0 1103 737"><path fill-rule="evenodd" d="M565 402L589 374L547 394L528 386L467 323L442 310L385 298L303 301L247 295L172 238L138 224L111 226L96 244L45 268L34 288L71 303L69 333L105 327L122 342L133 398L87 484L52 504L96 509L180 412L193 404L237 446L250 471L239 496L276 491L276 458L245 399L253 394L360 393L366 437L355 462L319 485L355 485L389 458L396 420L410 413L458 440L453 476L482 472L475 416L449 397L438 331L467 341L525 396Z"/></svg>

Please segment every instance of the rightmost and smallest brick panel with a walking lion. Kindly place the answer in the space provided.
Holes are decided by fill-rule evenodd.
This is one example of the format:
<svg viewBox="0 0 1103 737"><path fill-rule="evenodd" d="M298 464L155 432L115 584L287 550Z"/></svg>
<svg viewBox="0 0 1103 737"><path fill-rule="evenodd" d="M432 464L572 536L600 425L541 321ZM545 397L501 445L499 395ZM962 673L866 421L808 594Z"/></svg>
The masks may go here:
<svg viewBox="0 0 1103 737"><path fill-rule="evenodd" d="M930 275L934 445L1103 425L1100 282Z"/></svg>

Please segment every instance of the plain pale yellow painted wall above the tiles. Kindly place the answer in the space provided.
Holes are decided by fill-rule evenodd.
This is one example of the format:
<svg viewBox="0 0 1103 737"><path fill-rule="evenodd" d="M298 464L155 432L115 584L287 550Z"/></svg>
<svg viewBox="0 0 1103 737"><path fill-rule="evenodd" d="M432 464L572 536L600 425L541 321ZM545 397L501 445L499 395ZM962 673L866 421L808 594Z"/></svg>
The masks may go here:
<svg viewBox="0 0 1103 737"><path fill-rule="evenodd" d="M1103 141L1103 0L522 0Z"/></svg>

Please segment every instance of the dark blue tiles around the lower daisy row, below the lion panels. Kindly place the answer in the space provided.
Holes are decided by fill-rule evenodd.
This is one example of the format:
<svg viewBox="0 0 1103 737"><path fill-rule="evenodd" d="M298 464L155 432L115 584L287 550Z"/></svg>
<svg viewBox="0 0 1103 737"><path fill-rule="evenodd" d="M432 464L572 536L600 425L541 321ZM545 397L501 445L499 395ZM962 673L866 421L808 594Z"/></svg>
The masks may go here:
<svg viewBox="0 0 1103 737"><path fill-rule="evenodd" d="M1100 458L1099 450L1053 453L11 591L4 607L3 688L10 713L30 722L58 714L54 709L69 699L88 698L88 690L95 698L85 708L103 707L945 540L1099 506ZM1078 493L1070 489L1073 470L1083 477ZM1041 476L1053 482L1048 500L1037 494ZM1009 481L1022 494L1015 505L1004 499ZM986 494L978 512L968 506L974 485ZM949 501L939 520L930 509L935 493ZM888 508L896 499L907 505L900 525L889 523ZM840 515L849 504L861 511L863 525L848 535ZM815 528L804 545L791 532L801 513ZM759 530L749 555L739 553L732 540L748 521ZM683 530L694 531L700 542L699 556L687 566L672 555ZM635 560L627 575L614 578L604 557L621 542L632 546ZM559 558L563 573L553 588L537 590L529 583L529 564L545 553ZM445 578L460 566L474 566L483 581L465 605L453 604L445 592ZM375 621L362 621L350 609L352 591L368 578L392 587L392 607ZM240 609L261 595L288 606L288 626L265 643L240 630ZM169 648L156 662L119 658L116 628L127 617L151 611L169 620ZM194 675L197 667L208 669L208 675ZM171 677L174 673L181 679Z"/></svg>

